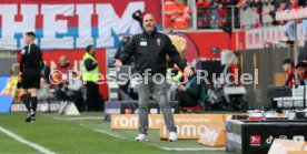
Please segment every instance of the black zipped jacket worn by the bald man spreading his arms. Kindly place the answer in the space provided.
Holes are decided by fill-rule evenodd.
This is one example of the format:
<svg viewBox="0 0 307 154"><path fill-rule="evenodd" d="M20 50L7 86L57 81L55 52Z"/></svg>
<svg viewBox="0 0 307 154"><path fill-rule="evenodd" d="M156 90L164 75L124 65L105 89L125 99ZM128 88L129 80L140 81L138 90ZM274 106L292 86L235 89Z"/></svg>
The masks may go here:
<svg viewBox="0 0 307 154"><path fill-rule="evenodd" d="M167 55L169 55L181 70L187 65L181 60L169 37L156 30L151 34L142 32L133 35L125 47L123 53L120 55L119 60L125 63L132 55L135 58L135 69L137 73L143 73L146 69L151 69L149 72L151 74L166 74Z"/></svg>

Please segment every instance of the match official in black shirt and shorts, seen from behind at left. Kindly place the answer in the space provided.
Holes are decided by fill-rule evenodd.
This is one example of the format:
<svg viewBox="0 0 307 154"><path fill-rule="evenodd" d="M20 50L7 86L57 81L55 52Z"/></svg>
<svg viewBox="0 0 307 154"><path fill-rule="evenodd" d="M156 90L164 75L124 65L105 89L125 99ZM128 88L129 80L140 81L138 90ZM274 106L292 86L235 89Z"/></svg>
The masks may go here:
<svg viewBox="0 0 307 154"><path fill-rule="evenodd" d="M40 48L37 44L34 44L34 32L26 33L24 42L27 45L22 49L20 59L20 95L22 102L24 103L28 110L26 122L36 121L36 112L38 104L37 90L40 88L40 68L42 62L42 53ZM30 99L27 96L28 89L31 89Z"/></svg>

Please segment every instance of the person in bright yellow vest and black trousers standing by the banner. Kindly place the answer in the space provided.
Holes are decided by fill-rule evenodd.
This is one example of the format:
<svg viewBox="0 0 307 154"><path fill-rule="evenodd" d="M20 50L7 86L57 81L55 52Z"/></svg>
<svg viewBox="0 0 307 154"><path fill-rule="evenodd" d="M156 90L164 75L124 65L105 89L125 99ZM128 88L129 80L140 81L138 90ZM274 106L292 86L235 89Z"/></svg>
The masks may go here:
<svg viewBox="0 0 307 154"><path fill-rule="evenodd" d="M87 86L87 110L101 111L103 102L98 89L99 64L95 58L92 44L87 47L87 52L82 58L82 79Z"/></svg>

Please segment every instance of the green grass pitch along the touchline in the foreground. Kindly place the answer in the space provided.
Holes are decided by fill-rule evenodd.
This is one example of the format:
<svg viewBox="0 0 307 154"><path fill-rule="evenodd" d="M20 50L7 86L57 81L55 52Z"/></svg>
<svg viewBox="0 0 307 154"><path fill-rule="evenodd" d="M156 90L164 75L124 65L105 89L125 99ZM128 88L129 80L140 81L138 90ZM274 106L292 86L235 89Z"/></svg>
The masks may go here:
<svg viewBox="0 0 307 154"><path fill-rule="evenodd" d="M0 126L57 154L229 154L224 151L166 151L162 147L204 148L205 146L197 144L196 140L160 141L159 131L149 132L149 142L136 142L133 138L137 131L112 131L109 129L110 123L103 122L101 113L83 113L80 116L38 114L33 123L24 123L24 114L0 114ZM0 154L39 153L36 148L0 132Z"/></svg>

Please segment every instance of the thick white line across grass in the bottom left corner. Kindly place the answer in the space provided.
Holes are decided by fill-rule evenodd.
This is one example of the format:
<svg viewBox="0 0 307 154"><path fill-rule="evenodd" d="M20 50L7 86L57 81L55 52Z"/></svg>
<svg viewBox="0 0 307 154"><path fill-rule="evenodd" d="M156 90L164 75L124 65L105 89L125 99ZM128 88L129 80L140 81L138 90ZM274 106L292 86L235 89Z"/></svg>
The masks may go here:
<svg viewBox="0 0 307 154"><path fill-rule="evenodd" d="M8 136L12 137L13 140L20 142L20 143L23 143L23 144L27 144L33 148L36 148L37 151L43 153L43 154L56 154L55 152L51 152L50 150L43 147L43 146L40 146L33 142L30 142L30 141L27 141L20 136L18 136L17 134L14 134L13 132L10 132L9 130L6 130L3 129L2 126L0 126L0 131L3 132L4 134L7 134Z"/></svg>

